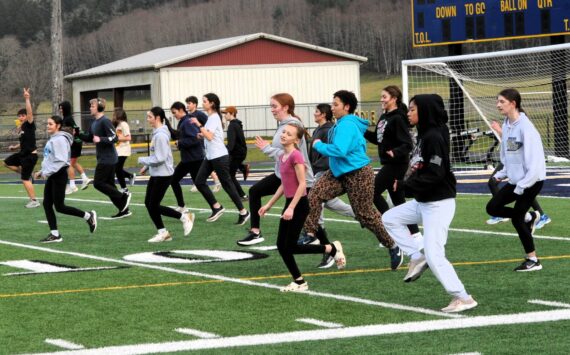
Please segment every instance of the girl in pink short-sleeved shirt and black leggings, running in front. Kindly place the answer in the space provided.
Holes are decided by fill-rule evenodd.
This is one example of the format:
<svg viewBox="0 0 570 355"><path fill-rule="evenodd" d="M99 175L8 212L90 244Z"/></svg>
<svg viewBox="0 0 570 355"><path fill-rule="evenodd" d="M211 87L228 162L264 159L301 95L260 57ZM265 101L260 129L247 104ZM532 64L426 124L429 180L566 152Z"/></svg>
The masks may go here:
<svg viewBox="0 0 570 355"><path fill-rule="evenodd" d="M299 267L295 262L294 254L329 253L334 257L339 269L343 269L346 265L346 258L338 241L327 245L297 244L299 233L301 233L305 219L309 214L307 184L305 182L305 160L297 146L304 134L305 129L296 124L288 124L283 129L281 144L283 145L284 153L279 156L281 185L271 200L259 209L259 215L263 217L281 195L285 195L285 207L283 208L277 234L277 249L291 276L293 276L293 282L283 287L281 289L282 292L302 292L309 289L309 285L303 279L301 271L299 271Z"/></svg>

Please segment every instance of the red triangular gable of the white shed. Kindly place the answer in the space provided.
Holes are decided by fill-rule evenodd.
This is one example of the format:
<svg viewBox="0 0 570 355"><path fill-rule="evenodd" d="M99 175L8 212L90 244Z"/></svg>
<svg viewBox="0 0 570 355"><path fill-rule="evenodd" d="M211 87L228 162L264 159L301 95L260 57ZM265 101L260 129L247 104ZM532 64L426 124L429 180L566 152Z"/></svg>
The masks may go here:
<svg viewBox="0 0 570 355"><path fill-rule="evenodd" d="M222 65L259 65L286 63L342 62L342 58L293 45L260 38L218 52L182 61L168 67L202 67Z"/></svg>

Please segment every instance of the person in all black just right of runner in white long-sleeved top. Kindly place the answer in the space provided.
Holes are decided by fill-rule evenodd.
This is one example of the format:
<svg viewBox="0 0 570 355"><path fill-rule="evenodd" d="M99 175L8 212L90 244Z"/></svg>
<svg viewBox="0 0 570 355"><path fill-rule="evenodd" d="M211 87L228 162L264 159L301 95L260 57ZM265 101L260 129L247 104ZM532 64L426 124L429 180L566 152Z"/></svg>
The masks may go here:
<svg viewBox="0 0 570 355"><path fill-rule="evenodd" d="M243 124L237 119L237 108L234 106L226 107L226 109L222 111L222 114L226 122L228 122L228 144L226 148L228 148L228 153L230 154L230 177L241 199L247 201L248 197L236 179L238 170L243 172L244 180L246 180L249 175L249 164L243 163L247 157L247 145L243 134Z"/></svg>

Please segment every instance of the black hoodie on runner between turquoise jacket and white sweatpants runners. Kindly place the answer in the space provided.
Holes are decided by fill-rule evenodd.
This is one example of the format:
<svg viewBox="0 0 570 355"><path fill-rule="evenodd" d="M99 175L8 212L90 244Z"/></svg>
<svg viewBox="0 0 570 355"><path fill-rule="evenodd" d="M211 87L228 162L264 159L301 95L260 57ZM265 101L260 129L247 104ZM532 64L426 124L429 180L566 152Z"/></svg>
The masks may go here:
<svg viewBox="0 0 570 355"><path fill-rule="evenodd" d="M366 131L364 138L378 146L378 157L382 165L408 165L412 151L408 119L403 108L383 113L378 119L374 132ZM392 151L392 158L386 152Z"/></svg>

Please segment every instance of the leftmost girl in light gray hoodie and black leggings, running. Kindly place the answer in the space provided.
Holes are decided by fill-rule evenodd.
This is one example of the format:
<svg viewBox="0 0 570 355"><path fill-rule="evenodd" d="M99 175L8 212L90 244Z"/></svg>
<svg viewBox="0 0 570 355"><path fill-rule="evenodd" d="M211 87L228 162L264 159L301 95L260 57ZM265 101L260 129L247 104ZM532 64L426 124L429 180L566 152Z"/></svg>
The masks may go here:
<svg viewBox="0 0 570 355"><path fill-rule="evenodd" d="M97 213L84 212L75 207L65 205L65 188L67 186L67 169L71 160L71 142L73 136L61 130L63 119L52 116L47 120L47 132L50 139L44 147L44 160L42 169L35 174L36 179L47 179L44 187L43 207L48 220L50 233L40 240L41 243L58 243L63 237L57 229L55 210L59 213L83 218L89 225L89 231L97 229Z"/></svg>

